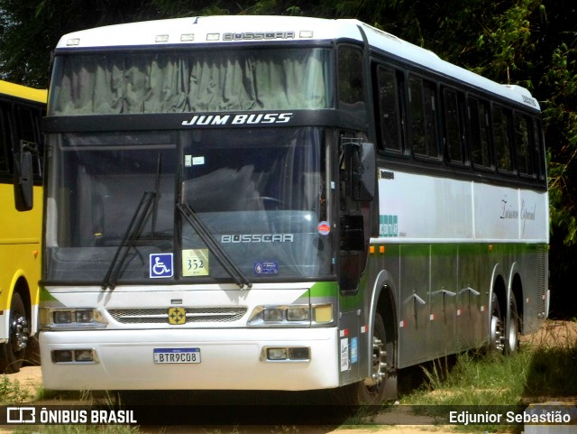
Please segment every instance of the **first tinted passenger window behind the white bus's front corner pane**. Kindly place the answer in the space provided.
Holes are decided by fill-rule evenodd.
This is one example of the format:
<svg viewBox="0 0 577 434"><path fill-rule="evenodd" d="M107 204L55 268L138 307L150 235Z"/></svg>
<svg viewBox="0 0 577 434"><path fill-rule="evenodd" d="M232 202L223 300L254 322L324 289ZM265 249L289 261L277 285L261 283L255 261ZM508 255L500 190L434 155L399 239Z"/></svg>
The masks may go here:
<svg viewBox="0 0 577 434"><path fill-rule="evenodd" d="M396 72L392 69L378 67L377 88L379 89L379 149L401 152L401 117Z"/></svg>

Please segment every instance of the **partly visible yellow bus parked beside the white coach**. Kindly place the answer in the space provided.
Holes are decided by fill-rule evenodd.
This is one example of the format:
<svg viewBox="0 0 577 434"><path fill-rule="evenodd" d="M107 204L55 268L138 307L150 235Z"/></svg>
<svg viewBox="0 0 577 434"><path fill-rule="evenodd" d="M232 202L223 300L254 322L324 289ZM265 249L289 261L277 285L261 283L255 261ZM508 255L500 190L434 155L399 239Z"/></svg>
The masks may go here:
<svg viewBox="0 0 577 434"><path fill-rule="evenodd" d="M37 362L41 116L47 91L0 80L0 370Z"/></svg>

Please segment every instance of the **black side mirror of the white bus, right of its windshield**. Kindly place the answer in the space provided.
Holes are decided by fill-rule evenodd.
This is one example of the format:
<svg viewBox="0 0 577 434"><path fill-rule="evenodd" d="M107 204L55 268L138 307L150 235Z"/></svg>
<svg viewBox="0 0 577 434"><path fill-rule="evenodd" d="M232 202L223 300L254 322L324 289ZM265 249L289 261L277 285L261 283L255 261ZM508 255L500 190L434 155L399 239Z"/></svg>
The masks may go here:
<svg viewBox="0 0 577 434"><path fill-rule="evenodd" d="M352 155L352 196L354 200L369 201L375 195L376 156L372 143L354 146Z"/></svg>

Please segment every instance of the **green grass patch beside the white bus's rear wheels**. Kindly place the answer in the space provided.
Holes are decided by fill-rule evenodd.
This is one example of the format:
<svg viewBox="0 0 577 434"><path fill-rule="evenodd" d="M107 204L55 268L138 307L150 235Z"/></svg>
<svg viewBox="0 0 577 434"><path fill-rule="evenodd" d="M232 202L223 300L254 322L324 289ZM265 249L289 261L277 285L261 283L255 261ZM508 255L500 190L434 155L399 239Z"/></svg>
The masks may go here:
<svg viewBox="0 0 577 434"><path fill-rule="evenodd" d="M577 397L577 337L545 333L513 355L469 352L454 364L444 361L424 369L426 381L401 403L435 408L444 413L456 406L527 406L529 403L563 401ZM471 430L472 427L467 427ZM479 426L479 432L520 432L516 426Z"/></svg>

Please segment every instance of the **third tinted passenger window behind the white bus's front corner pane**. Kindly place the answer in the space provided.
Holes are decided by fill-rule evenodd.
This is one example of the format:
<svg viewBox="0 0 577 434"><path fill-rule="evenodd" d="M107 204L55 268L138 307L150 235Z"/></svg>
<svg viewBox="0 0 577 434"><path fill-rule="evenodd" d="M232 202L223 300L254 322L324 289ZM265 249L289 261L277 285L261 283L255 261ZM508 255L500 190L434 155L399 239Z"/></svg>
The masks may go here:
<svg viewBox="0 0 577 434"><path fill-rule="evenodd" d="M446 156L450 162L463 164L465 162L465 132L460 114L460 108L462 106L460 99L460 96L454 90L444 89L444 140Z"/></svg>

